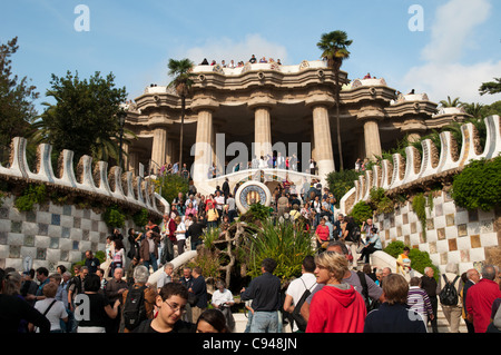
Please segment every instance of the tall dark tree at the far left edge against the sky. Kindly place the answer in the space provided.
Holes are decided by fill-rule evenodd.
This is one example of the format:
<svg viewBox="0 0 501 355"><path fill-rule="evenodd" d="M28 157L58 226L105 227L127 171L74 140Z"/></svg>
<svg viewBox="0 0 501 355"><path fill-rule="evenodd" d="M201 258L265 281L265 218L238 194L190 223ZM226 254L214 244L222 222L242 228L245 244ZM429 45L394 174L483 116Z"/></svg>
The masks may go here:
<svg viewBox="0 0 501 355"><path fill-rule="evenodd" d="M12 138L27 137L37 116L36 87L26 77L20 79L12 73L11 57L18 49L17 37L0 46L0 152L7 151ZM3 160L1 155L0 159Z"/></svg>

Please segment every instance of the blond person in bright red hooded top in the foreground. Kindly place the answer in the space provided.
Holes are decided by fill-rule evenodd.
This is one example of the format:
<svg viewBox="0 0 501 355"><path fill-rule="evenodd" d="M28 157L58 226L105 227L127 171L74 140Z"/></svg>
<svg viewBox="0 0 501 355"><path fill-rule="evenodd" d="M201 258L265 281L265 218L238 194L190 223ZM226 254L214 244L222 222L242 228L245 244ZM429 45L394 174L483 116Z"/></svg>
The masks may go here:
<svg viewBox="0 0 501 355"><path fill-rule="evenodd" d="M324 252L315 264L316 282L324 286L313 296L306 333L363 333L367 312L361 294L343 283L348 272L346 257Z"/></svg>

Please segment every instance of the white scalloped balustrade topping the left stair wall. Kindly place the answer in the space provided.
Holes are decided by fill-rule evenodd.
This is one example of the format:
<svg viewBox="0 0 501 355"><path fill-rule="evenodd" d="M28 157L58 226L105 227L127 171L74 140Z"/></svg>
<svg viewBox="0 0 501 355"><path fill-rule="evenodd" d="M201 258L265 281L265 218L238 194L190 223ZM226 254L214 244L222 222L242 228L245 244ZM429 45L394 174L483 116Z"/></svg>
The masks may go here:
<svg viewBox="0 0 501 355"><path fill-rule="evenodd" d="M27 140L16 137L11 142L10 167L0 164L0 175L8 179L24 179L28 181L43 183L65 188L80 190L88 195L94 193L104 197L110 197L117 203L128 203L137 207L147 208L150 213L161 215L157 207L158 199L164 207L168 208L155 194L153 184L134 177L132 172L121 174L119 167L112 167L108 171L106 161L97 161L92 169L92 158L82 156L73 169L73 151L63 150L58 160L58 174L55 174L51 162L52 147L42 144L37 150L36 171L31 171L26 156Z"/></svg>

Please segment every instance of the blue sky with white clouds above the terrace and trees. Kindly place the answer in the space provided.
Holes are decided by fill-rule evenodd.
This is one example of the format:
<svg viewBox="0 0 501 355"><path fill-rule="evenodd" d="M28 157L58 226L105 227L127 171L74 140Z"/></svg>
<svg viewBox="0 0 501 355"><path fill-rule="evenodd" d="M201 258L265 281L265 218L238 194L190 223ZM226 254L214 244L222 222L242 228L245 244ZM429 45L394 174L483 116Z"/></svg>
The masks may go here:
<svg viewBox="0 0 501 355"><path fill-rule="evenodd" d="M391 88L492 103L482 82L501 77L499 0L16 0L4 1L0 42L18 37L12 69L49 101L51 76L112 72L129 99L150 83L167 85L170 58L284 65L320 59L322 33L353 40L342 70L367 72Z"/></svg>

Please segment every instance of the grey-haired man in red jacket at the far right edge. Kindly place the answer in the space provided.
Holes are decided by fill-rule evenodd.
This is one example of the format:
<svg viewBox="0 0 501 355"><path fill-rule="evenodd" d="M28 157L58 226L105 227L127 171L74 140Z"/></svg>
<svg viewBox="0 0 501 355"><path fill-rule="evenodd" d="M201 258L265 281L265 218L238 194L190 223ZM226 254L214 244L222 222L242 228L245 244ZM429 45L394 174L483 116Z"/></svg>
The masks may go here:
<svg viewBox="0 0 501 355"><path fill-rule="evenodd" d="M497 274L494 266L485 265L482 268L482 278L468 290L468 319L473 323L475 333L485 333L491 321L492 304L497 298L501 298L501 290L494 282Z"/></svg>

